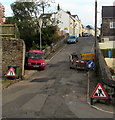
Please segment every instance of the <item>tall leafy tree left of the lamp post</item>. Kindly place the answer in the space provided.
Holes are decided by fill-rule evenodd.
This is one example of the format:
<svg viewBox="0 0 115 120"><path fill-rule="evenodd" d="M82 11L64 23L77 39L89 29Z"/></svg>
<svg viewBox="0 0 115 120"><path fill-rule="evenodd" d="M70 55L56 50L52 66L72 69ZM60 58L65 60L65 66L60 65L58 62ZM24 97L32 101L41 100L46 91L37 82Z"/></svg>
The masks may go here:
<svg viewBox="0 0 115 120"><path fill-rule="evenodd" d="M37 19L37 6L34 2L14 2L11 4L14 19L20 31L21 39L24 39L27 49L32 47L33 36L39 31Z"/></svg>

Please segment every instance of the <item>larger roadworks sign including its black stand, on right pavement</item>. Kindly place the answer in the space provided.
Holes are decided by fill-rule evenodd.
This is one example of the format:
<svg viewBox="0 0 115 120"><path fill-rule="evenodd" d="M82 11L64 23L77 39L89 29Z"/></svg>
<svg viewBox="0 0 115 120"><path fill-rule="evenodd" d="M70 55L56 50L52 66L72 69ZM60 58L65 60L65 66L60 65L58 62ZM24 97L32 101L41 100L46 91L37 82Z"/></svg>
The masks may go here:
<svg viewBox="0 0 115 120"><path fill-rule="evenodd" d="M91 95L91 105L93 105L94 99L97 99L97 100L103 99L106 101L106 103L108 103L109 101L109 96L107 92L105 91L104 87L101 85L101 83L98 83L98 85L96 86L95 90L93 91Z"/></svg>

